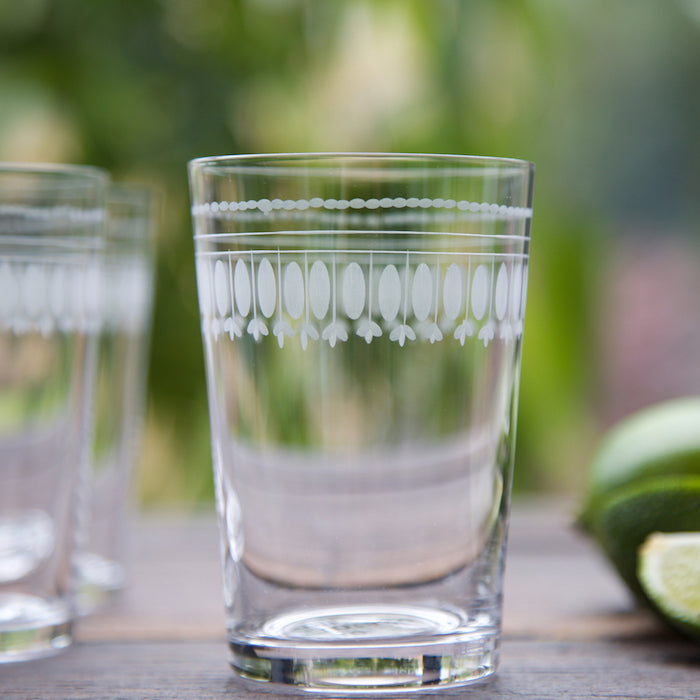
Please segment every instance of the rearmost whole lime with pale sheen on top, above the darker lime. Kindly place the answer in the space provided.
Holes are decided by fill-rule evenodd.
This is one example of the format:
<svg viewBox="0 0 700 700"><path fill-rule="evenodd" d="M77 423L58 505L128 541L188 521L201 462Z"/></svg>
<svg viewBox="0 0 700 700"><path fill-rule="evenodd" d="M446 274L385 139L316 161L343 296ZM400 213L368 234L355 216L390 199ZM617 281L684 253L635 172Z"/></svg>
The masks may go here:
<svg viewBox="0 0 700 700"><path fill-rule="evenodd" d="M590 527L629 484L682 474L700 475L700 396L657 404L610 430L593 458L580 520Z"/></svg>

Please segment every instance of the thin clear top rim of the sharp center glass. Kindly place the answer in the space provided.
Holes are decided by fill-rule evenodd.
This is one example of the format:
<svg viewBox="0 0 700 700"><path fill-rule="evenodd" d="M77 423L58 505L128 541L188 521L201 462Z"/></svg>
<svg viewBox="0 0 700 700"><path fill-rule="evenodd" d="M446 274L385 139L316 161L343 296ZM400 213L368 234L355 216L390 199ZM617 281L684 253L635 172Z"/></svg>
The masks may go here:
<svg viewBox="0 0 700 700"><path fill-rule="evenodd" d="M212 169L214 172L240 172L253 173L256 171L270 170L277 166L286 174L295 171L307 172L309 161L314 161L314 167L319 170L324 161L332 171L340 171L341 164L347 166L352 161L357 161L358 166L367 167L376 163L404 165L399 170L415 171L426 166L456 166L467 170L476 171L479 168L495 167L504 172L509 168L515 172L524 172L532 175L535 164L529 160L508 158L502 156L477 156L461 154L441 153L411 153L391 151L313 151L313 152L279 152L279 153L241 153L219 156L201 156L193 158L187 164L190 173L202 172ZM412 161L412 162L411 162Z"/></svg>

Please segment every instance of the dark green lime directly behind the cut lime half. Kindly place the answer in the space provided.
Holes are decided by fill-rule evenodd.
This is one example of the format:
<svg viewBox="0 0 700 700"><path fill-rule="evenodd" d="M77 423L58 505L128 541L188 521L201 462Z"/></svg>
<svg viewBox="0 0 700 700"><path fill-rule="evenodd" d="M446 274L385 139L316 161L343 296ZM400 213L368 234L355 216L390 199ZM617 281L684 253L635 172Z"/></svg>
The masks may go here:
<svg viewBox="0 0 700 700"><path fill-rule="evenodd" d="M605 501L589 530L643 600L637 579L639 547L653 532L700 531L700 476L658 476L628 485Z"/></svg>

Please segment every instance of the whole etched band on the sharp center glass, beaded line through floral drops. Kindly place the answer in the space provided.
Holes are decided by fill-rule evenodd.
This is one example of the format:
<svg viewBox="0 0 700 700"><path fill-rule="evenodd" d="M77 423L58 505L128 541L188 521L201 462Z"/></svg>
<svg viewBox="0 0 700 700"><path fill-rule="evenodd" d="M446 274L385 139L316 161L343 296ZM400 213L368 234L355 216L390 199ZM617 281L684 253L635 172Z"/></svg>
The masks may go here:
<svg viewBox="0 0 700 700"><path fill-rule="evenodd" d="M272 335L280 348L298 338L304 350L310 342L334 348L384 337L400 347L464 346L468 339L488 346L522 334L529 207L439 197L311 197L205 202L192 215L201 231L195 240L202 324L217 342ZM227 233L232 221L241 227ZM293 248L295 236L309 230L303 225L322 231L326 222L332 231L347 226L348 241L355 231L391 226L408 231L406 240L411 232L426 236L409 250L380 250L374 242L369 249ZM275 235L285 247L268 242ZM426 250L430 235L454 236L459 245ZM246 239L260 246L248 249Z"/></svg>

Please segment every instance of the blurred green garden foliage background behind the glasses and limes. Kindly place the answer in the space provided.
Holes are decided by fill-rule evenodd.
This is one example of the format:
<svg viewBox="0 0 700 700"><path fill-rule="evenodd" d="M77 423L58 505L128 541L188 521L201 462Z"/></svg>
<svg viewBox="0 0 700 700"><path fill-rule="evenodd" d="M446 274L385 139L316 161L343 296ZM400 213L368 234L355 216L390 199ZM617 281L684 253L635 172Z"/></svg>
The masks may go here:
<svg viewBox="0 0 700 700"><path fill-rule="evenodd" d="M0 0L0 160L162 195L144 503L212 496L185 163L310 150L536 162L520 491L700 393L700 0Z"/></svg>

